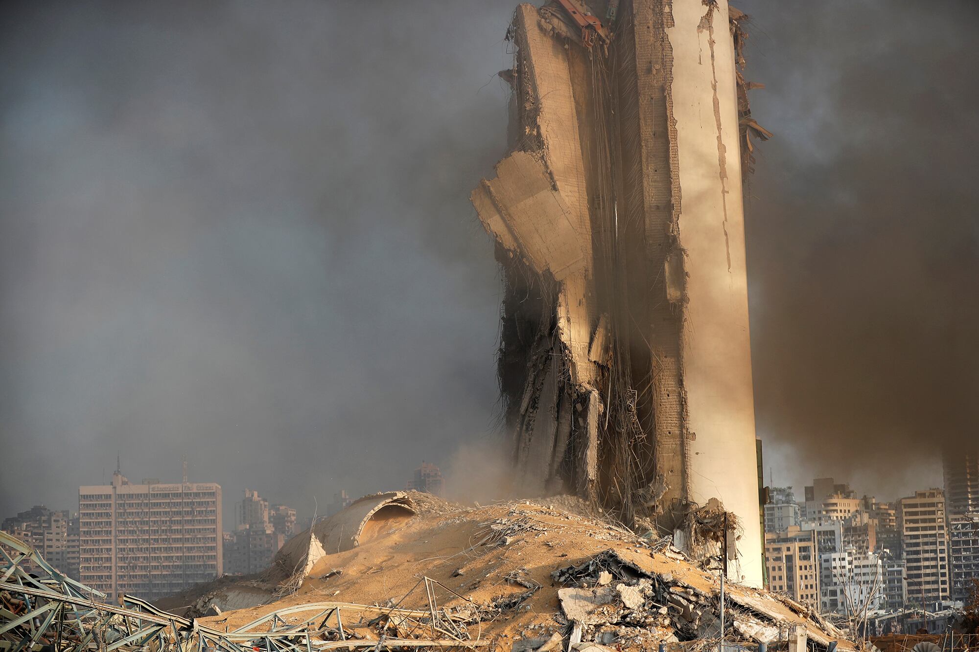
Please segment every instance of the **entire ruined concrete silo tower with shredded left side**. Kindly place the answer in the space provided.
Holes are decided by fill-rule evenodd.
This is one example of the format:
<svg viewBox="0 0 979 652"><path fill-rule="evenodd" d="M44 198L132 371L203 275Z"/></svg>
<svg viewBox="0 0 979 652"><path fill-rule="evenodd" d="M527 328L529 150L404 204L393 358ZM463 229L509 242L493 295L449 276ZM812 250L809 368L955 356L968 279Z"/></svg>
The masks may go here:
<svg viewBox="0 0 979 652"><path fill-rule="evenodd" d="M608 41L583 39L567 3L517 8L510 154L471 197L504 272L518 482L667 531L712 497L754 524L740 182L750 138L770 134L737 70L744 15L725 0L586 10ZM748 530L737 579L758 584Z"/></svg>

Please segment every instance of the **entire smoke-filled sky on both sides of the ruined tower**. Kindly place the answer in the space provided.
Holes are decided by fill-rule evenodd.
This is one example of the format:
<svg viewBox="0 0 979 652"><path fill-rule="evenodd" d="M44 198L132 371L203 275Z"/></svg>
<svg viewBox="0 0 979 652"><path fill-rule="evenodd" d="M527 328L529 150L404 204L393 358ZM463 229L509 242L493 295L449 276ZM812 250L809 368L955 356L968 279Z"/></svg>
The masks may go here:
<svg viewBox="0 0 979 652"><path fill-rule="evenodd" d="M940 484L940 443L979 439L979 8L740 6L776 134L747 206L774 482ZM423 459L493 482L467 197L504 154L512 9L5 4L0 515L72 508L117 454L164 482L186 455L226 526L246 487L309 515Z"/></svg>

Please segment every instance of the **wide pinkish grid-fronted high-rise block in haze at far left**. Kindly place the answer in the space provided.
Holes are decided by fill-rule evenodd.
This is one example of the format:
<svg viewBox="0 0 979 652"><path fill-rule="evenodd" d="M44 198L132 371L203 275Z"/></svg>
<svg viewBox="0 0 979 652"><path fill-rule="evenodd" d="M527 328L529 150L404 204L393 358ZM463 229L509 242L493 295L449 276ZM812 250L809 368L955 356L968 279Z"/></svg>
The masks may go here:
<svg viewBox="0 0 979 652"><path fill-rule="evenodd" d="M221 573L221 488L214 483L78 488L80 580L117 599L155 600Z"/></svg>

